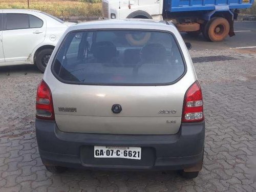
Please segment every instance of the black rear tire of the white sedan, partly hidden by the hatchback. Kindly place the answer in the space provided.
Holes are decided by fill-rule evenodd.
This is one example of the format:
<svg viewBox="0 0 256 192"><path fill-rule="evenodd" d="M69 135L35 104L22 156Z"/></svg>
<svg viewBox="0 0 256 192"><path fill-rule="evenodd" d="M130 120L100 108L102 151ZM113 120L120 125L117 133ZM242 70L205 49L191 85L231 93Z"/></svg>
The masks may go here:
<svg viewBox="0 0 256 192"><path fill-rule="evenodd" d="M35 59L36 67L41 71L45 72L47 63L50 59L53 49L43 49L37 55Z"/></svg>

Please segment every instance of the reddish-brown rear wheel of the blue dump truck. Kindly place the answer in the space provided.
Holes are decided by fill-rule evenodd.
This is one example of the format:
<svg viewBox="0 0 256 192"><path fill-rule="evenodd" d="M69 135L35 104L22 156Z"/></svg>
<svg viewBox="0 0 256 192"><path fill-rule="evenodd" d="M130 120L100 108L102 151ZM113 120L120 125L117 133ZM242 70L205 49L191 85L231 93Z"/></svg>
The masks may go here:
<svg viewBox="0 0 256 192"><path fill-rule="evenodd" d="M203 35L210 41L222 41L229 33L228 20L223 17L214 17L206 23Z"/></svg>

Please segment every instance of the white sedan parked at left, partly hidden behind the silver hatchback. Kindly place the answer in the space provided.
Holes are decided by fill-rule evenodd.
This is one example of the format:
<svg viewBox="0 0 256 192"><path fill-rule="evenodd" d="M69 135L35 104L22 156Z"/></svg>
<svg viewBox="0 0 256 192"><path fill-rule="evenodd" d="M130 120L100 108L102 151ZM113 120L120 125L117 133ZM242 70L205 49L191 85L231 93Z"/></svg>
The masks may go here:
<svg viewBox="0 0 256 192"><path fill-rule="evenodd" d="M0 9L0 66L36 64L44 72L58 39L70 25L37 10Z"/></svg>

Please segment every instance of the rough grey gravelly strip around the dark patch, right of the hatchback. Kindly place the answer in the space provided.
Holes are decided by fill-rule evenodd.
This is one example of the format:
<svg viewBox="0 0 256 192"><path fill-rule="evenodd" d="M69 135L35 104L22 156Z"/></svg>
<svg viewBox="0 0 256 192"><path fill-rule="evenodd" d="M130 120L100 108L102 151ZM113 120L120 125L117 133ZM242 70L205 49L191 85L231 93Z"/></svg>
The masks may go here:
<svg viewBox="0 0 256 192"><path fill-rule="evenodd" d="M248 53L237 50L191 51L191 57L225 55L236 60L194 63L201 83L232 82L236 80L256 80L256 52Z"/></svg>

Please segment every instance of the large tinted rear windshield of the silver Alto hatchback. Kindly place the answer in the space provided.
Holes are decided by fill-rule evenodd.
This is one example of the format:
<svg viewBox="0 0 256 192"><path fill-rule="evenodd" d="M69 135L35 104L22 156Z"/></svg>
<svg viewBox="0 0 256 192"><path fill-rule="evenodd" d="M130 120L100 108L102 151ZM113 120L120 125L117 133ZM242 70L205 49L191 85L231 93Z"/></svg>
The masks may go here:
<svg viewBox="0 0 256 192"><path fill-rule="evenodd" d="M171 33L104 30L69 33L52 70L66 83L138 85L173 83L185 65Z"/></svg>

